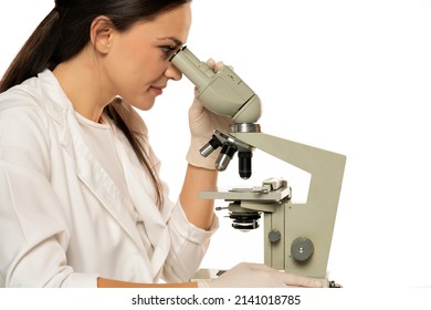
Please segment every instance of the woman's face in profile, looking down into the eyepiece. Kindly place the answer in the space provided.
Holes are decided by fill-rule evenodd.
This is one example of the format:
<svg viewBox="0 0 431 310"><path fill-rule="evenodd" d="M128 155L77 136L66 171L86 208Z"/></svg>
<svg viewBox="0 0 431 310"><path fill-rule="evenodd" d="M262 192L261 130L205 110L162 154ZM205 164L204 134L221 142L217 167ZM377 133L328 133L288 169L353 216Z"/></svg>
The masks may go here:
<svg viewBox="0 0 431 310"><path fill-rule="evenodd" d="M102 61L108 92L139 110L153 107L168 80L181 79L169 62L186 43L191 24L190 4L183 4L126 32L116 32Z"/></svg>

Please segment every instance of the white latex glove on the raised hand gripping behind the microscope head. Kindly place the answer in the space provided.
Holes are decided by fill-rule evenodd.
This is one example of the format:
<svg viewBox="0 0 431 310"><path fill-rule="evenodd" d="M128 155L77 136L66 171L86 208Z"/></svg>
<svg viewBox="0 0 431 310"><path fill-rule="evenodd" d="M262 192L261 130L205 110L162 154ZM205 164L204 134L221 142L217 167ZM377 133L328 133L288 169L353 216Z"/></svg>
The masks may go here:
<svg viewBox="0 0 431 310"><path fill-rule="evenodd" d="M216 63L212 59L207 61L209 68L218 72L224 64ZM214 130L228 133L230 117L217 115L207 110L202 103L195 96L193 103L189 108L189 127L191 134L190 147L187 153L187 162L193 166L207 169L214 169L214 163L219 156L219 151L210 156L203 157L199 149L206 145L212 137Z"/></svg>

